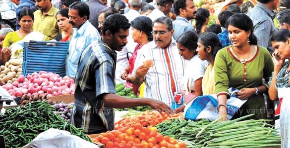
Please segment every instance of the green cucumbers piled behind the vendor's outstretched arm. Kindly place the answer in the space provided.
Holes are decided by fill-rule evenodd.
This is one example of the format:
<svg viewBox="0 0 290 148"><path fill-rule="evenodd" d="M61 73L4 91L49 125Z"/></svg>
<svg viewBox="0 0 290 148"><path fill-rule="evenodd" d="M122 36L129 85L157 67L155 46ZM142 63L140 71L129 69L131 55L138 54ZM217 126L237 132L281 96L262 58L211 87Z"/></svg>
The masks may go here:
<svg viewBox="0 0 290 148"><path fill-rule="evenodd" d="M116 94L119 96L124 96L128 98L138 98L134 92L132 91L132 88L126 88L124 84L116 84L115 86L116 89ZM117 111L147 111L151 110L149 106L144 106L144 107L133 107L133 108L124 108L124 109L116 109Z"/></svg>

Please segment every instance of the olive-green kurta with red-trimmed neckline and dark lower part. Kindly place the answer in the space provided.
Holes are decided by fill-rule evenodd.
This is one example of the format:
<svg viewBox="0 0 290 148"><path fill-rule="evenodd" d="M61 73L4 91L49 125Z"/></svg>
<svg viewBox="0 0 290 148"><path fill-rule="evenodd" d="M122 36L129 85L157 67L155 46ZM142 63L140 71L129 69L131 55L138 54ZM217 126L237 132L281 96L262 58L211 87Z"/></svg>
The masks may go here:
<svg viewBox="0 0 290 148"><path fill-rule="evenodd" d="M269 78L274 70L274 63L269 51L264 47L255 46L253 55L250 55L246 61L245 63L240 62L231 46L218 51L214 65L216 94L229 95L230 87L254 88L261 84L268 87ZM263 94L250 97L232 119L252 113L255 114L251 117L253 119L266 118L267 111Z"/></svg>

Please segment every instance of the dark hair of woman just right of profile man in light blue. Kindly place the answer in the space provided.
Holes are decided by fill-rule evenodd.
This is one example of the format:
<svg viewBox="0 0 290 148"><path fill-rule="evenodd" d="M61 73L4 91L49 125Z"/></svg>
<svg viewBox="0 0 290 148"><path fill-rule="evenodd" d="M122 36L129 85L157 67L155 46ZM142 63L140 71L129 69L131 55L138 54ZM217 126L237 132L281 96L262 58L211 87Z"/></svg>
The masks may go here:
<svg viewBox="0 0 290 148"><path fill-rule="evenodd" d="M196 26L197 34L200 33L203 23L206 22L206 19L209 18L209 16L210 16L210 13L208 9L199 8L196 10L195 26Z"/></svg>

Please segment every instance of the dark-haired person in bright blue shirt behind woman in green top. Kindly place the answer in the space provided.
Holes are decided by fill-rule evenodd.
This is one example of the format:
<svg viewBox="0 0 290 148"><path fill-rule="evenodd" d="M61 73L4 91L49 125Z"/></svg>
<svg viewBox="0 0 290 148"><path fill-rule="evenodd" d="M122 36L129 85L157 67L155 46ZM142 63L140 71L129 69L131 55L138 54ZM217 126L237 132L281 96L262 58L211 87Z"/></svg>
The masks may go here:
<svg viewBox="0 0 290 148"><path fill-rule="evenodd" d="M233 15L233 13L231 11L227 11L227 10L222 11L218 15L220 24L222 25L222 27L224 29L220 34L218 34L218 37L220 39L220 42L222 43L223 48L232 44L232 41L229 38L229 33L228 33L228 28L227 28L227 21L232 15Z"/></svg>

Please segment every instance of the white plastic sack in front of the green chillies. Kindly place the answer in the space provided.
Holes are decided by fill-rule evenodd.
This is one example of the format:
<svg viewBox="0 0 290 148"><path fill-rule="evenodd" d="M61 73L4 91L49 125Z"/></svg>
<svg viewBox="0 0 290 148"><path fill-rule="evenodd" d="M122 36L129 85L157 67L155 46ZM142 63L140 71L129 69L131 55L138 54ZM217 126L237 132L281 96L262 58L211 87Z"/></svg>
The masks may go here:
<svg viewBox="0 0 290 148"><path fill-rule="evenodd" d="M31 143L23 148L99 148L97 145L85 141L68 131L51 128L40 133Z"/></svg>

